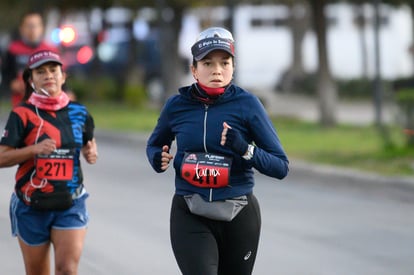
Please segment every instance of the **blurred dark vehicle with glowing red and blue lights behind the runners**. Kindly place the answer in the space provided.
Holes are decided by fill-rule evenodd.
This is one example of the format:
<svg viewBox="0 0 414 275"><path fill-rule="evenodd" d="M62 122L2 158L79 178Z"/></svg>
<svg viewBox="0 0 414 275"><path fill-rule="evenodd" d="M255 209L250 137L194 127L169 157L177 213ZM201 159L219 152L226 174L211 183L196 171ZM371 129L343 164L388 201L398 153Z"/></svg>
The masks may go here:
<svg viewBox="0 0 414 275"><path fill-rule="evenodd" d="M93 8L48 18L49 41L59 46L71 75L94 73L123 80L138 67L151 97L161 88L160 39L153 8Z"/></svg>

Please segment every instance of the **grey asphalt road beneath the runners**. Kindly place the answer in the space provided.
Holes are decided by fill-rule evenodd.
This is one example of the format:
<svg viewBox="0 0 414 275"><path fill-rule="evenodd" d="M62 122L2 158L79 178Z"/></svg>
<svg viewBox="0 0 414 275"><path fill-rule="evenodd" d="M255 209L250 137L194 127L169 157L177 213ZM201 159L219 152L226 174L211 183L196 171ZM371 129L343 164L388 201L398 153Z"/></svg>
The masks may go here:
<svg viewBox="0 0 414 275"><path fill-rule="evenodd" d="M133 138L132 138L133 140ZM169 241L173 171L156 174L145 138L98 140L84 164L90 225L81 275L175 275ZM15 168L0 170L0 274L24 274L10 236ZM296 168L278 181L257 174L262 236L254 274L414 274L414 188Z"/></svg>

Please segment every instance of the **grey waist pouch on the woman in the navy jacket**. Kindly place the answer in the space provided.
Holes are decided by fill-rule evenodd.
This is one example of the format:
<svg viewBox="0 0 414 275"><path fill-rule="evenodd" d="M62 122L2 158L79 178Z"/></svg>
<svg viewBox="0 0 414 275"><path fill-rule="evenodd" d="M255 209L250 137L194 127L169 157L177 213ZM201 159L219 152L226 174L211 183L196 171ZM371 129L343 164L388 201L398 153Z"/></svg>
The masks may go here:
<svg viewBox="0 0 414 275"><path fill-rule="evenodd" d="M224 201L205 201L199 194L184 196L191 213L217 221L232 221L248 204L247 196Z"/></svg>

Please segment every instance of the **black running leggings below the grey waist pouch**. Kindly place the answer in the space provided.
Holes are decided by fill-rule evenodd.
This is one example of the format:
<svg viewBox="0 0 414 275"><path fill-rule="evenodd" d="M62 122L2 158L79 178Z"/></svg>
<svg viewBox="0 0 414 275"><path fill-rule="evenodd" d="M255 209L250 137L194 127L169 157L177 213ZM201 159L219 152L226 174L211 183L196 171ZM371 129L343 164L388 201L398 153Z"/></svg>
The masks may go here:
<svg viewBox="0 0 414 275"><path fill-rule="evenodd" d="M260 237L259 203L253 194L231 221L192 214L182 196L171 207L171 244L183 275L250 275Z"/></svg>

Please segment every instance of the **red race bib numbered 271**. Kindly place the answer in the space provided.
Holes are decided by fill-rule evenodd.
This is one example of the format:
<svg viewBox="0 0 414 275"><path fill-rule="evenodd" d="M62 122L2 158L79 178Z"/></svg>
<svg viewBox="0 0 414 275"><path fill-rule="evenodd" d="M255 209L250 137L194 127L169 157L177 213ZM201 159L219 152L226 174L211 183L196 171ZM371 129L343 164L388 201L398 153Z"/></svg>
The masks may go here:
<svg viewBox="0 0 414 275"><path fill-rule="evenodd" d="M50 155L37 155L36 175L55 181L72 180L74 154L69 149L57 149Z"/></svg>

